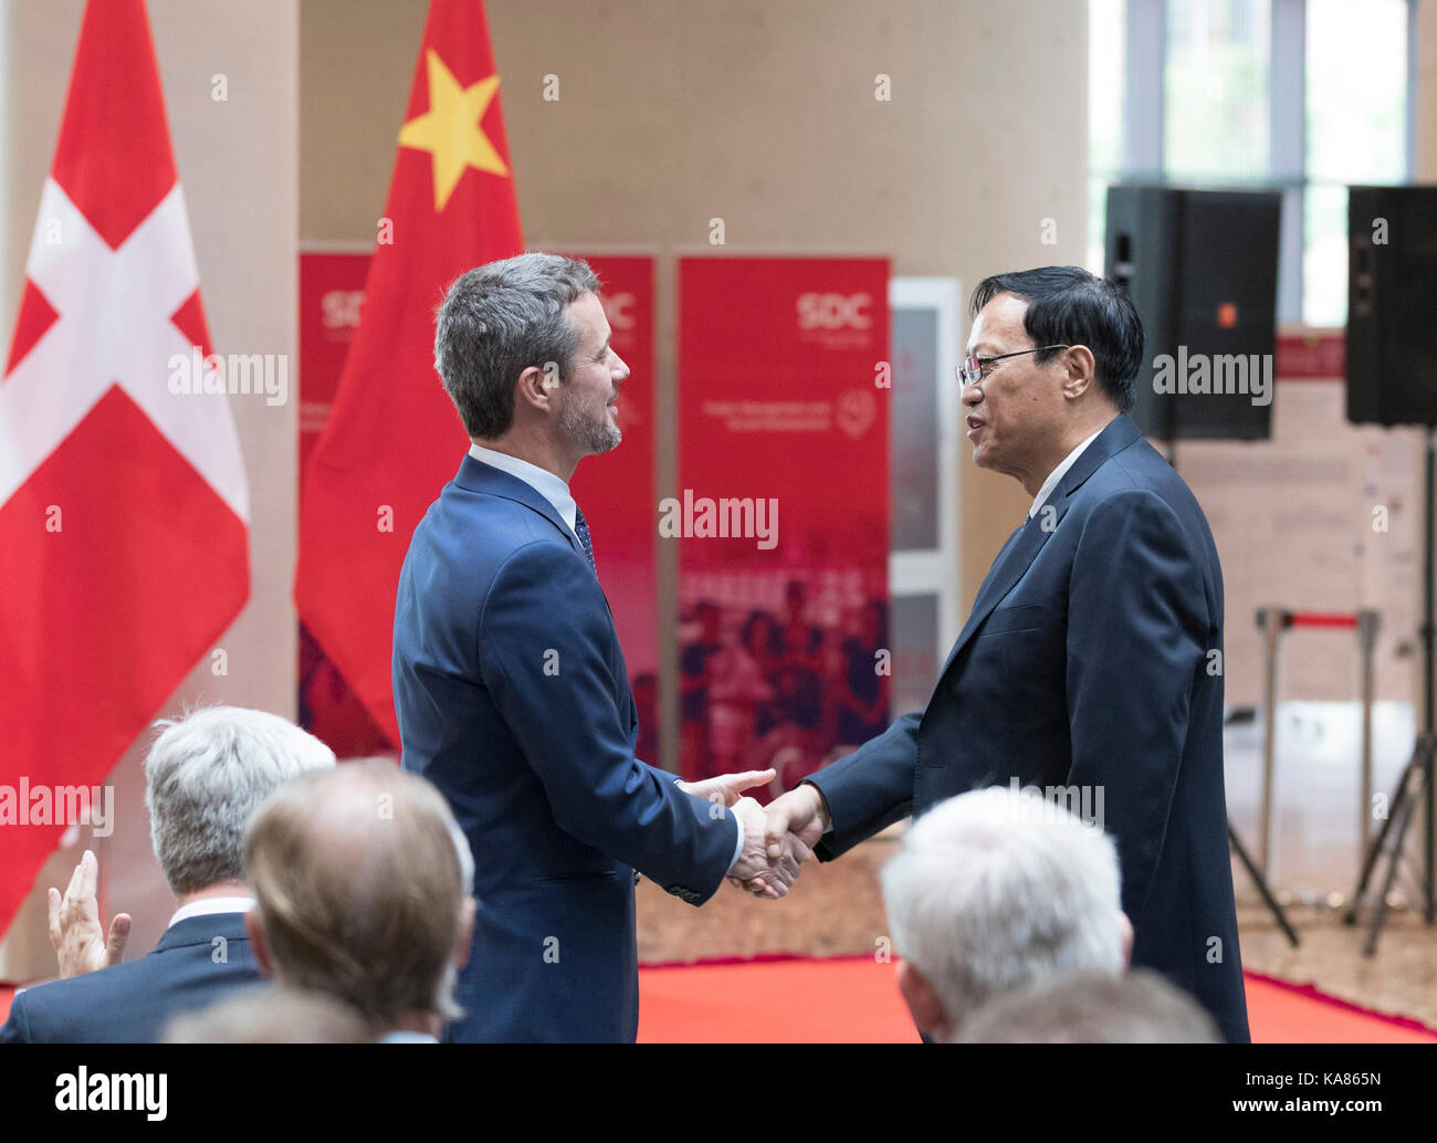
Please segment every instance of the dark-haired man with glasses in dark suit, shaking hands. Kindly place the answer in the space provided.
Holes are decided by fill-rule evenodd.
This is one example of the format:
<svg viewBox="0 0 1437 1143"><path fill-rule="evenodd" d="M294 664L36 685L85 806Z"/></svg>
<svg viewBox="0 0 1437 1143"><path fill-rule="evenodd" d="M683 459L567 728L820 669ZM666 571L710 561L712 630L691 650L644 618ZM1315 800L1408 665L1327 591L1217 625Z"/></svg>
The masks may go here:
<svg viewBox="0 0 1437 1143"><path fill-rule="evenodd" d="M1191 992L1229 1041L1247 1009L1223 792L1223 579L1203 510L1124 416L1142 328L1076 267L973 295L960 367L973 460L1027 519L993 561L924 710L769 807L831 861L986 785L1039 786L1118 843L1132 965Z"/></svg>

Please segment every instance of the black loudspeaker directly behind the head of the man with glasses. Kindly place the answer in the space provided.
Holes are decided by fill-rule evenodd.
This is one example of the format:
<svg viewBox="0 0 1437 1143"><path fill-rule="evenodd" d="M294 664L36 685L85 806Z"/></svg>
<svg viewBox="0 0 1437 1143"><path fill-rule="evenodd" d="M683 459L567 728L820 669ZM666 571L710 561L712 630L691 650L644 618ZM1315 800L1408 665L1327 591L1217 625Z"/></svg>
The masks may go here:
<svg viewBox="0 0 1437 1143"><path fill-rule="evenodd" d="M1279 191L1108 188L1105 273L1142 318L1131 416L1161 440L1272 436Z"/></svg>

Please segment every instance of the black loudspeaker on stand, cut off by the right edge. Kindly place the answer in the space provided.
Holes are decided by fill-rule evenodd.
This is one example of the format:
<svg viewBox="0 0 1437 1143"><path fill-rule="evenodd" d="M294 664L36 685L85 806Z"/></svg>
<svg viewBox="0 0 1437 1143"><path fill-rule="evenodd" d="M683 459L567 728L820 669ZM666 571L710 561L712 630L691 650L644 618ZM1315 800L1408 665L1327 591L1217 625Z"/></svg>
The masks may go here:
<svg viewBox="0 0 1437 1143"><path fill-rule="evenodd" d="M1437 426L1437 187L1348 188L1348 420Z"/></svg>

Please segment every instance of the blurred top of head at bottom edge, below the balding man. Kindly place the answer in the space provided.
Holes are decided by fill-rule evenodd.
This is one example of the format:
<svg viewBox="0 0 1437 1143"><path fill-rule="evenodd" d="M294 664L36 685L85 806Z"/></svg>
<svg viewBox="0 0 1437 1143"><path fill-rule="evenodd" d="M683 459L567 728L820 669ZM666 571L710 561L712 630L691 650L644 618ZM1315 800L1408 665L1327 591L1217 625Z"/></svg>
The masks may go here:
<svg viewBox="0 0 1437 1143"><path fill-rule="evenodd" d="M175 1016L165 1044L369 1044L374 1028L348 1005L319 992L246 988Z"/></svg>

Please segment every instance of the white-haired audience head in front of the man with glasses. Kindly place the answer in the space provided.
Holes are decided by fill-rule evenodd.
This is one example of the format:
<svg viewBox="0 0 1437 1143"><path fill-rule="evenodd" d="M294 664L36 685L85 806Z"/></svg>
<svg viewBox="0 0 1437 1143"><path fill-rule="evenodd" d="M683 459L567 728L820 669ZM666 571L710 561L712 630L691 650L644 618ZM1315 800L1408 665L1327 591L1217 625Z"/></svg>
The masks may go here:
<svg viewBox="0 0 1437 1143"><path fill-rule="evenodd" d="M1127 966L1112 841L1032 791L940 802L910 827L882 886L898 986L918 1031L940 1042L1004 992Z"/></svg>

